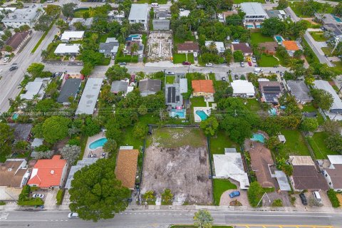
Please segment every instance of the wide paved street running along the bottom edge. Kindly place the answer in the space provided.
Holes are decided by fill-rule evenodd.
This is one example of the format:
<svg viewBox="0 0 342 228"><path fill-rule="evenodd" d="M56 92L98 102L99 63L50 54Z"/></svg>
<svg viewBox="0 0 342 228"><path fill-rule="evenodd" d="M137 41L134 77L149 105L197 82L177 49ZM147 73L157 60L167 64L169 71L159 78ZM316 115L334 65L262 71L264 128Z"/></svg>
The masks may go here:
<svg viewBox="0 0 342 228"><path fill-rule="evenodd" d="M94 224L68 219L68 212L0 212L1 227L167 227L168 224L191 224L195 211L145 210L125 211L114 219ZM212 212L215 224L331 225L342 227L342 214L301 212Z"/></svg>

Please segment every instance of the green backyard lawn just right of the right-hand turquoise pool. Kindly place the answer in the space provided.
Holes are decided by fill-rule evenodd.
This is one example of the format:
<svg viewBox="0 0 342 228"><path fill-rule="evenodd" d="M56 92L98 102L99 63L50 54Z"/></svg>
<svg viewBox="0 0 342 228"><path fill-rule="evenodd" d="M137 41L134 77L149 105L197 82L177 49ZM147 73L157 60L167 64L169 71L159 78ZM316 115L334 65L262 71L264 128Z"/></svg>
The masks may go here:
<svg viewBox="0 0 342 228"><path fill-rule="evenodd" d="M289 158L289 155L310 156L308 147L299 130L281 130L286 138L284 147L276 152L277 157Z"/></svg>

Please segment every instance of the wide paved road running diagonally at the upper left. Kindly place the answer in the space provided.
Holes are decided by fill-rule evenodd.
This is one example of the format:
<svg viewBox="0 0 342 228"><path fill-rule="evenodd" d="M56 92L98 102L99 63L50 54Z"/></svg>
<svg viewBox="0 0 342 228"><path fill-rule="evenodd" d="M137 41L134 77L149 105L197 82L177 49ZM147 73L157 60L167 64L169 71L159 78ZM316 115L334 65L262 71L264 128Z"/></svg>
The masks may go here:
<svg viewBox="0 0 342 228"><path fill-rule="evenodd" d="M37 48L35 53L31 53L34 46L42 36L42 32L33 31L31 40L28 41L26 46L21 50L21 53L18 53L11 63L0 65L0 75L2 76L0 80L0 113L6 112L9 109L9 98L15 98L16 95L19 94L20 90L18 88L19 83L24 78L24 73L28 66L34 62L41 61L41 50L45 49L48 46L48 43L51 43L53 40L53 36L56 35L58 28L51 28L51 31L48 33L48 36L44 38L41 45ZM18 69L16 71L9 71L12 63L18 64Z"/></svg>

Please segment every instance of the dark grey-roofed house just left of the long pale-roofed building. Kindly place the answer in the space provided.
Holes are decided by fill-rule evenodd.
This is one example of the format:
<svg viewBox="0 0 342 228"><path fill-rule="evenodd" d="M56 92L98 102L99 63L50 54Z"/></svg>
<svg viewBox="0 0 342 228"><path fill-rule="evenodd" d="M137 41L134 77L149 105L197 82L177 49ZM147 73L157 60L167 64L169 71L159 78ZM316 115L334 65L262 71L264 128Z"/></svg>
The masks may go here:
<svg viewBox="0 0 342 228"><path fill-rule="evenodd" d="M81 87L81 82L81 78L68 78L61 88L57 102L63 103L64 105L70 104L70 98L73 98L73 100L76 98L78 90Z"/></svg>

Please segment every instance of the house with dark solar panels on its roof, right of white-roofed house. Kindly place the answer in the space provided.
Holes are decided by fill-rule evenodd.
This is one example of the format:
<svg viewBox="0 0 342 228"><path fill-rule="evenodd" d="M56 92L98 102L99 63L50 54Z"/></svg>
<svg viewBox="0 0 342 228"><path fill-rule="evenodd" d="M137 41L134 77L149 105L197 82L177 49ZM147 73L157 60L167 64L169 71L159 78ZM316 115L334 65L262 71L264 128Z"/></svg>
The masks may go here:
<svg viewBox="0 0 342 228"><path fill-rule="evenodd" d="M277 81L259 81L261 101L277 104L282 94L281 84Z"/></svg>

